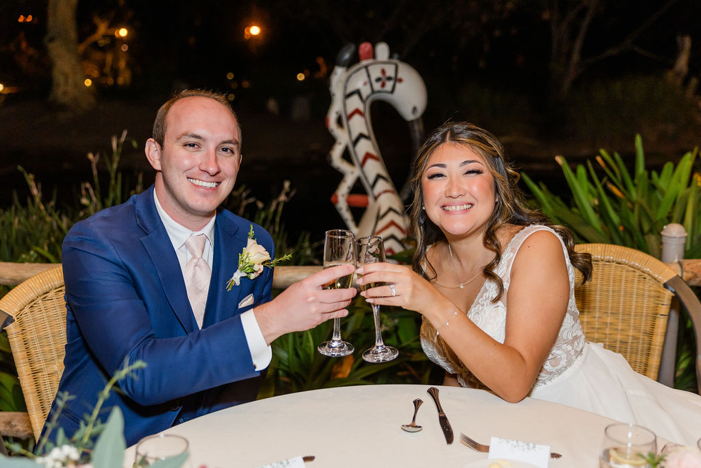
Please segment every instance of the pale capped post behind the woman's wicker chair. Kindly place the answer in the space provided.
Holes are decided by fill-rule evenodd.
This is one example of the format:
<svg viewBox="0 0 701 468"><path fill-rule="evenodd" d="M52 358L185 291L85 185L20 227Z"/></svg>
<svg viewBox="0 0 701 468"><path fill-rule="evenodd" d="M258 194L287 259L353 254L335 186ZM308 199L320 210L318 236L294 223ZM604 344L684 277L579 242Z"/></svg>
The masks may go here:
<svg viewBox="0 0 701 468"><path fill-rule="evenodd" d="M686 229L682 225L672 222L662 229L662 262L679 262L684 258L684 244L686 243ZM665 333L665 345L662 346L662 360L660 361L660 373L658 382L674 387L674 370L676 367L676 337L679 333L679 301L672 301L667 318L667 332Z"/></svg>

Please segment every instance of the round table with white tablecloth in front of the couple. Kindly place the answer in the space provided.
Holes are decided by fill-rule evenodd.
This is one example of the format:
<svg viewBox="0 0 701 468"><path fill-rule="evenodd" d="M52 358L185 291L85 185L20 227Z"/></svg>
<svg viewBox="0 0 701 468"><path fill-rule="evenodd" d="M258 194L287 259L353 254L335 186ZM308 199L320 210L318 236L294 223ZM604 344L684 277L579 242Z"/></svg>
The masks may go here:
<svg viewBox="0 0 701 468"><path fill-rule="evenodd" d="M537 399L507 403L483 390L438 387L455 435L447 445L428 388L367 385L275 396L198 417L164 433L189 440L193 468L255 468L297 455L315 456L305 464L308 468L465 467L486 460L486 453L460 442L461 432L480 443L497 436L549 445L562 454L550 460L550 467L596 468L604 427L614 422ZM416 398L423 400L416 417L423 430L404 432L400 425L411 421ZM130 447L125 466L133 460Z"/></svg>

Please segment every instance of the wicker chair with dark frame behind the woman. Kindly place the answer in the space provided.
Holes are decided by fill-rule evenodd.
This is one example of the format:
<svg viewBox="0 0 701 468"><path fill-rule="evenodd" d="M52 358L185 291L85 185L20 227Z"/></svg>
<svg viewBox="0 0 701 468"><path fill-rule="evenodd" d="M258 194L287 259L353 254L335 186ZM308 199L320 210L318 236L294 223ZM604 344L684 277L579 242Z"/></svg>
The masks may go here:
<svg viewBox="0 0 701 468"><path fill-rule="evenodd" d="M701 302L674 270L639 250L583 243L592 254L592 281L575 290L584 335L622 354L637 372L658 380L667 319L675 295L689 313L696 337L701 392ZM577 284L580 283L577 272Z"/></svg>

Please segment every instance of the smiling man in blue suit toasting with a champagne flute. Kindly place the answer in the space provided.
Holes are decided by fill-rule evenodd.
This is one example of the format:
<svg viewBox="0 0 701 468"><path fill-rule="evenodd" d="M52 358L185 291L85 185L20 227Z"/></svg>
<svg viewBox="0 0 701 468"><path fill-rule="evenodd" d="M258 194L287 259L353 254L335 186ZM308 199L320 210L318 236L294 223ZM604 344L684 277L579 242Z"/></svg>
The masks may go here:
<svg viewBox="0 0 701 468"><path fill-rule="evenodd" d="M355 290L323 286L351 273L351 265L309 276L275 299L268 268L226 290L251 227L257 243L274 254L265 229L217 210L236 181L240 147L240 126L225 98L179 93L159 109L146 143L154 185L76 223L67 234L67 345L59 392L76 398L57 417L67 436L125 363L141 360L147 366L118 382L119 391L111 392L104 408L121 408L132 445L174 424L254 400L276 337L348 314ZM198 256L184 244L198 234L206 237L202 260L211 276L203 315L196 316L184 272ZM48 420L56 409L54 402Z"/></svg>

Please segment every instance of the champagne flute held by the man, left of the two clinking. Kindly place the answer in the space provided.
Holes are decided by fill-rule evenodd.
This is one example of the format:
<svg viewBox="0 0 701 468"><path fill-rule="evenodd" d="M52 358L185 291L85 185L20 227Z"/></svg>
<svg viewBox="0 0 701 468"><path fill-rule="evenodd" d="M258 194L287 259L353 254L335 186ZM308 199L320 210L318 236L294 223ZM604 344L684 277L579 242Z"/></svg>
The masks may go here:
<svg viewBox="0 0 701 468"><path fill-rule="evenodd" d="M324 268L336 267L350 263L355 267L355 238L346 229L331 229L324 239ZM353 273L334 279L327 289L350 288ZM341 319L334 319L334 334L330 341L325 341L317 348L324 356L341 357L352 354L355 348L351 343L341 340Z"/></svg>

